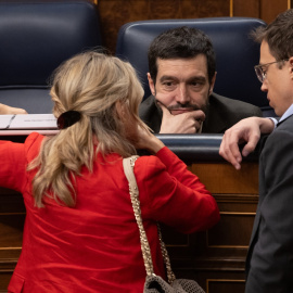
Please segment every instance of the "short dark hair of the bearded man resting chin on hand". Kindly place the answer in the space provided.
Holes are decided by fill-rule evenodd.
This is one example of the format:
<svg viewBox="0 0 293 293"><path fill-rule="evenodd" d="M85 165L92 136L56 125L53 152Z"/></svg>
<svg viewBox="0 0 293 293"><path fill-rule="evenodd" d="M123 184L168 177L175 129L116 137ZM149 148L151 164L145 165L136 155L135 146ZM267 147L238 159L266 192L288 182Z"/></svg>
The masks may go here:
<svg viewBox="0 0 293 293"><path fill-rule="evenodd" d="M191 59L204 54L207 62L208 81L216 72L215 51L209 38L200 29L181 26L168 29L158 35L151 43L148 52L149 71L156 80L157 59Z"/></svg>

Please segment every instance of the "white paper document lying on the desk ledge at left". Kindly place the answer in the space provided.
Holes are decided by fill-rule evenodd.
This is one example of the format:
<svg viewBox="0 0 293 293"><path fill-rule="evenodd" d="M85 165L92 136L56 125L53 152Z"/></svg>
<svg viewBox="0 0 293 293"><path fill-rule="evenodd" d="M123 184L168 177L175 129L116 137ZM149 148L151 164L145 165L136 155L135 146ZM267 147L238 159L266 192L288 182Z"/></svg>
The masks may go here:
<svg viewBox="0 0 293 293"><path fill-rule="evenodd" d="M0 130L58 129L53 114L0 115Z"/></svg>

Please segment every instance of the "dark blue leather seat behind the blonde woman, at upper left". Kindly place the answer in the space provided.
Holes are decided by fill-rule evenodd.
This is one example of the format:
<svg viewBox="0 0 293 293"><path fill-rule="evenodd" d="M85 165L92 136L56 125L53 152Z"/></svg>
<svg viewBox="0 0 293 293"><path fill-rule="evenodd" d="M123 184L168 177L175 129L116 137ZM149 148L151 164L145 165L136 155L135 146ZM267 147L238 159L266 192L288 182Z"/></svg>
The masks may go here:
<svg viewBox="0 0 293 293"><path fill-rule="evenodd" d="M101 44L99 14L90 1L0 1L0 103L51 113L52 72Z"/></svg>

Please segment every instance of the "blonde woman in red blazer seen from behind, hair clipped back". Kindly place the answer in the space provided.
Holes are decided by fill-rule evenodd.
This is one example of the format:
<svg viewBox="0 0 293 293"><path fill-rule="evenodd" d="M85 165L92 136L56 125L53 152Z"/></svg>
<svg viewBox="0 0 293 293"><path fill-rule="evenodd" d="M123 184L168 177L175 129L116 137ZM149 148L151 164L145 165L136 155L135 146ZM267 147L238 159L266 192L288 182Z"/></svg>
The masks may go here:
<svg viewBox="0 0 293 293"><path fill-rule="evenodd" d="M138 116L143 90L130 64L98 52L58 68L60 132L0 142L0 186L23 193L23 250L9 292L142 292L145 269L123 158L135 175L156 275L165 278L156 221L190 233L219 219L199 178Z"/></svg>

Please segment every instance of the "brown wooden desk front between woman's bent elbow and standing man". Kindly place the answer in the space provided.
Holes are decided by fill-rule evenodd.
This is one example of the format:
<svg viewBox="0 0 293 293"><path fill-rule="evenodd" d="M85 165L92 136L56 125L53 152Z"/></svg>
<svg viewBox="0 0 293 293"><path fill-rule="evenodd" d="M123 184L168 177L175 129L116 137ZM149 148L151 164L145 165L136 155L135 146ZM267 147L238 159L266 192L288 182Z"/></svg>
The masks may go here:
<svg viewBox="0 0 293 293"><path fill-rule="evenodd" d="M189 166L215 196L221 219L191 235L166 229L165 240L177 277L195 278L208 293L244 292L245 257L258 201L258 164L235 170L225 163ZM182 239L182 245L177 245ZM176 242L174 241L176 240Z"/></svg>

